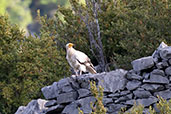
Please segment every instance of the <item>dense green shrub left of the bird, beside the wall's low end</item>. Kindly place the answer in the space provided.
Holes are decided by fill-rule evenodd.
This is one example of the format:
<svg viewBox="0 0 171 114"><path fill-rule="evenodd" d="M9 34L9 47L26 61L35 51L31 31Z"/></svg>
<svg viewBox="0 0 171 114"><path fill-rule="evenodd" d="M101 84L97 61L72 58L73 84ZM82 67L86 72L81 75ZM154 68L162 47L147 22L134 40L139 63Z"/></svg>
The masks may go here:
<svg viewBox="0 0 171 114"><path fill-rule="evenodd" d="M65 55L50 37L26 37L8 18L0 17L0 112L42 98L41 88L68 76Z"/></svg>

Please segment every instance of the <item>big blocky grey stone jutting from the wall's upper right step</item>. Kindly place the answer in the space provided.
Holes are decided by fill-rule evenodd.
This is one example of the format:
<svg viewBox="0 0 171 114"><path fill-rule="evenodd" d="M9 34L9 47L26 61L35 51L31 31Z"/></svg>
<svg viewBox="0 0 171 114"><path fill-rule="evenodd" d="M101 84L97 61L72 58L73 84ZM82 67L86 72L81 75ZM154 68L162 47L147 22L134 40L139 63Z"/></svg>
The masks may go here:
<svg viewBox="0 0 171 114"><path fill-rule="evenodd" d="M152 56L148 56L148 57L136 59L136 60L132 61L131 64L135 71L141 71L141 70L145 70L145 69L149 69L149 68L153 67L154 61L153 61Z"/></svg>

